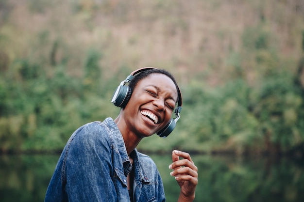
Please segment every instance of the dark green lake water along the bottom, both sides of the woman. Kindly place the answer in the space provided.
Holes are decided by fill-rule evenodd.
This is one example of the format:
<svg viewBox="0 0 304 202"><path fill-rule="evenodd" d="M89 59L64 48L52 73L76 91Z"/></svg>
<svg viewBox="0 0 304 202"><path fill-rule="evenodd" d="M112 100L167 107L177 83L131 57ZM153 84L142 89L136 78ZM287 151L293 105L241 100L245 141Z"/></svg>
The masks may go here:
<svg viewBox="0 0 304 202"><path fill-rule="evenodd" d="M169 175L170 154L150 155L168 202L179 186ZM59 155L0 155L0 202L43 202ZM199 168L195 202L304 202L304 161L287 157L192 155Z"/></svg>

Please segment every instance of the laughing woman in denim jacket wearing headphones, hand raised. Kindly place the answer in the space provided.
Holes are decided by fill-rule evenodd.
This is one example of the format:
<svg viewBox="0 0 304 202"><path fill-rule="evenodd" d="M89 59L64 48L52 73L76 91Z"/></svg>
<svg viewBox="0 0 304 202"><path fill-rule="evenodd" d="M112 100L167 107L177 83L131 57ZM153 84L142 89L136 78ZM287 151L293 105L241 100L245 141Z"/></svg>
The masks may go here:
<svg viewBox="0 0 304 202"><path fill-rule="evenodd" d="M175 79L165 70L136 70L121 82L112 102L121 107L114 121L85 124L72 134L45 202L166 201L156 165L136 146L144 137L166 137L174 129L182 104ZM181 187L178 202L192 202L198 173L190 155L174 150L169 169Z"/></svg>

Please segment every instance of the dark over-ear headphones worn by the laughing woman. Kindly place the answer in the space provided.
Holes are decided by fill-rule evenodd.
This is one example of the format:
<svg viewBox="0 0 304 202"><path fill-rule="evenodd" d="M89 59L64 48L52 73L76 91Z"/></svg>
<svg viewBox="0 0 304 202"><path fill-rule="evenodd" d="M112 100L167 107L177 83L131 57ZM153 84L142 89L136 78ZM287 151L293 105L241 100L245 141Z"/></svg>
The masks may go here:
<svg viewBox="0 0 304 202"><path fill-rule="evenodd" d="M136 74L139 74L140 72L147 71L149 69L157 69L154 67L144 67L137 69L133 71L125 80L121 81L120 85L116 88L116 91L113 94L112 97L112 103L120 108L124 108L128 101L130 100L130 97L132 95L132 90L129 86L126 86L126 83L130 83L132 78L135 77ZM176 126L176 122L180 118L179 113L182 110L182 94L179 90L179 87L177 87L177 94L178 94L178 102L177 102L177 108L174 110L175 119L170 119L169 123L160 131L158 131L156 134L159 137L166 138L169 136L169 134L173 131L173 129Z"/></svg>

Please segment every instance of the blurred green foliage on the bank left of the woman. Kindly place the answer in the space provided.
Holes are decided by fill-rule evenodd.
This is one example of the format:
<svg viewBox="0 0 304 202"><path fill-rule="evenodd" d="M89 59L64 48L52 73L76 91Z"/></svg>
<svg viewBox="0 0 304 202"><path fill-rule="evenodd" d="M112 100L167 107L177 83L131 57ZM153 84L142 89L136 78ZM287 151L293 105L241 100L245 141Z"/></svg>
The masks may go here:
<svg viewBox="0 0 304 202"><path fill-rule="evenodd" d="M60 150L75 125L105 118L102 99L109 98L84 98L81 79L68 76L64 65L55 66L51 77L28 60L13 62L11 69L1 75L1 151Z"/></svg>

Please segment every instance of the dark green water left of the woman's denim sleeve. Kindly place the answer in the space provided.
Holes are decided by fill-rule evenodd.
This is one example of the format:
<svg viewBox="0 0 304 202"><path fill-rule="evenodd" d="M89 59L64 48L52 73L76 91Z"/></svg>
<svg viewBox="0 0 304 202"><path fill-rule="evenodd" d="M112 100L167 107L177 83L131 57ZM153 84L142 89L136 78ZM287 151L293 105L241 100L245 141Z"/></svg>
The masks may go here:
<svg viewBox="0 0 304 202"><path fill-rule="evenodd" d="M43 202L58 156L0 156L1 202Z"/></svg>

